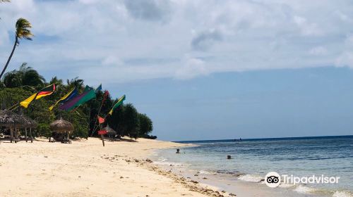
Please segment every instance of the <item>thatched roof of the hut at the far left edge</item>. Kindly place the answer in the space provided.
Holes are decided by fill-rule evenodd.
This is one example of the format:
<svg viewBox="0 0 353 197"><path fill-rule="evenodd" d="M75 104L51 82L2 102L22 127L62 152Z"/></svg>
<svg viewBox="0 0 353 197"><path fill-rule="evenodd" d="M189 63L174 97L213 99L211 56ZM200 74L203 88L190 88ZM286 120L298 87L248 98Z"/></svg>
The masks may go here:
<svg viewBox="0 0 353 197"><path fill-rule="evenodd" d="M24 116L13 113L11 110L0 110L0 127L25 128Z"/></svg>

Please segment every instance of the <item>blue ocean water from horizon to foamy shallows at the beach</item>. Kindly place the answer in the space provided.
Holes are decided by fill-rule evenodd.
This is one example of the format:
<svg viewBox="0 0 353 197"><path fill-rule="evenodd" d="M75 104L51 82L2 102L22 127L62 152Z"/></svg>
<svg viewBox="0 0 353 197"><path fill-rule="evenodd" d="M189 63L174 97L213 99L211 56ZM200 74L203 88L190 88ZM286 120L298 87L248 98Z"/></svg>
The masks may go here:
<svg viewBox="0 0 353 197"><path fill-rule="evenodd" d="M271 196L353 196L353 136L318 136L280 139L177 141L196 146L159 150L155 163L189 179L237 194L251 186ZM231 155L232 159L227 159ZM272 189L265 174L294 177L339 177L337 183L285 183Z"/></svg>

